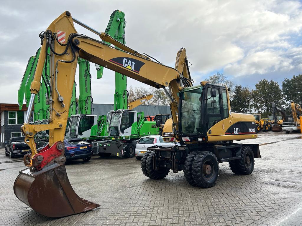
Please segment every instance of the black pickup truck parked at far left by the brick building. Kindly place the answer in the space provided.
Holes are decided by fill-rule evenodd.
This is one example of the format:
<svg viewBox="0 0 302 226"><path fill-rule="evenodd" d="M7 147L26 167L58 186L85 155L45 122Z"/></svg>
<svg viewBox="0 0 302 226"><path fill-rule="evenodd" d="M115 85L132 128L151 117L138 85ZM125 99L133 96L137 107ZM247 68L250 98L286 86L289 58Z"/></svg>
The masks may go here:
<svg viewBox="0 0 302 226"><path fill-rule="evenodd" d="M9 139L8 144L5 145L5 155L14 158L16 155L25 155L30 153L31 149L24 142L24 137L12 137Z"/></svg>

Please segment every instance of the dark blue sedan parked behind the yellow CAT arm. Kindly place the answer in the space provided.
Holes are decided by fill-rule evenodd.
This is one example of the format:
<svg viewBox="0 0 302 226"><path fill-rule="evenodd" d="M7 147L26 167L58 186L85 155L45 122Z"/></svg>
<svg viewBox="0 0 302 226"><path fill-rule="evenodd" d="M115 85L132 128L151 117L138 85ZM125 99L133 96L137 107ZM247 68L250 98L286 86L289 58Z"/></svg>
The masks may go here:
<svg viewBox="0 0 302 226"><path fill-rule="evenodd" d="M65 138L64 146L66 162L74 159L83 159L84 162L87 162L93 154L92 145L83 139Z"/></svg>

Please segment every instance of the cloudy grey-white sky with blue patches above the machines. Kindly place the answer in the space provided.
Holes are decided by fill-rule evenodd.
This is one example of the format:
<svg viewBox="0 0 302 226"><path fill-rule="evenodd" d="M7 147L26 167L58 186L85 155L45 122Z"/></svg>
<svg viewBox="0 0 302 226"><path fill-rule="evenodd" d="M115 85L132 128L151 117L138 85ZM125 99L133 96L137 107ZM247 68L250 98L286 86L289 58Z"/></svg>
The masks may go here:
<svg viewBox="0 0 302 226"><path fill-rule="evenodd" d="M0 102L17 103L27 61L40 47L39 33L66 10L98 31L105 30L114 10L123 11L126 45L172 67L184 47L194 85L217 72L251 89L261 79L281 84L285 77L301 74L301 6L300 1L282 0L3 1ZM114 72L105 69L103 78L96 79L91 63L91 74L94 103L113 103ZM127 84L147 86L130 78Z"/></svg>

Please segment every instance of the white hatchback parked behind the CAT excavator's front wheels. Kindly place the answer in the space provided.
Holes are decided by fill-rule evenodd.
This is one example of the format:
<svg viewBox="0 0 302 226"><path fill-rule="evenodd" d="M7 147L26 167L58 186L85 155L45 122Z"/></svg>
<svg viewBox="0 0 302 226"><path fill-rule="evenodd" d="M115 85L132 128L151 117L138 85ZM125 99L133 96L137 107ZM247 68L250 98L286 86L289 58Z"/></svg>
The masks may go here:
<svg viewBox="0 0 302 226"><path fill-rule="evenodd" d="M178 142L165 142L163 137L160 135L150 135L141 137L140 140L137 142L135 147L135 157L137 160L141 160L144 154L147 152L148 147L152 146L163 146L163 147L172 147L175 145L180 146Z"/></svg>

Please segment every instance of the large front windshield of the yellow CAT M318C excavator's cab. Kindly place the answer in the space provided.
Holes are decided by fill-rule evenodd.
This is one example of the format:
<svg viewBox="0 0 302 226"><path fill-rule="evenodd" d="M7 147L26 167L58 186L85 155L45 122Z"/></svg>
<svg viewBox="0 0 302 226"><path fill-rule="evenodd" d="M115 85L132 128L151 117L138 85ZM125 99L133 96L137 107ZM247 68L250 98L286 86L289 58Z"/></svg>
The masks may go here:
<svg viewBox="0 0 302 226"><path fill-rule="evenodd" d="M183 133L198 133L201 118L202 90L193 89L182 93L181 127Z"/></svg>

